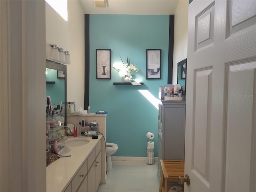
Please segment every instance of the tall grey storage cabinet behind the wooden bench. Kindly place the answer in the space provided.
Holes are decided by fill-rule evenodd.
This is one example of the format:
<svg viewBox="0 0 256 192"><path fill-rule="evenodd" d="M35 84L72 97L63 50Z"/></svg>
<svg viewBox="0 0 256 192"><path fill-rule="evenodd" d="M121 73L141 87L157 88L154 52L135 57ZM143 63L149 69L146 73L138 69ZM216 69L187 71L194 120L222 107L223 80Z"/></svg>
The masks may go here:
<svg viewBox="0 0 256 192"><path fill-rule="evenodd" d="M158 111L158 162L185 158L186 101L161 100ZM161 164L158 163L158 176Z"/></svg>

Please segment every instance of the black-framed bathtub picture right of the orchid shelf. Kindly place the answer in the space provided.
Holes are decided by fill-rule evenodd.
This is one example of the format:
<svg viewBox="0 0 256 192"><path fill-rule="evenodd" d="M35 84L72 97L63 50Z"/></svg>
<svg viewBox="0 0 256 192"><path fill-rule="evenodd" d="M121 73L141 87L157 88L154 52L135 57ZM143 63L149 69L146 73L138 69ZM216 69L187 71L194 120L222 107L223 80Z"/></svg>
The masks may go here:
<svg viewBox="0 0 256 192"><path fill-rule="evenodd" d="M161 52L162 49L146 50L146 79L161 79Z"/></svg>

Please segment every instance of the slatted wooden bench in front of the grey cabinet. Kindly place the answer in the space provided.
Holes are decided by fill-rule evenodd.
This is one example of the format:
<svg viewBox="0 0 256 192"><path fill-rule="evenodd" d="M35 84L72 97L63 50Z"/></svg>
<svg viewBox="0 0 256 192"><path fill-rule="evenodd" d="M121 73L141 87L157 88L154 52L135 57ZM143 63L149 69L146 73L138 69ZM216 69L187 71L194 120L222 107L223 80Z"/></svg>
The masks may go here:
<svg viewBox="0 0 256 192"><path fill-rule="evenodd" d="M184 184L178 184L178 176L184 176L184 160L160 160L161 162L161 180L159 192L168 192L172 186L168 182L177 182L173 186L182 186L184 191Z"/></svg>

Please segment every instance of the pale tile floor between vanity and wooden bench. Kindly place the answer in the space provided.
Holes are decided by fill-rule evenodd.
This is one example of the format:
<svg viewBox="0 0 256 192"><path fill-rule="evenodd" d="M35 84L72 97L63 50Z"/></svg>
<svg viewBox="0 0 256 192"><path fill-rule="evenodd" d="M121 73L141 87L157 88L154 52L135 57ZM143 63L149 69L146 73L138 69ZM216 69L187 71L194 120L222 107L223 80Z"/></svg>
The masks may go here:
<svg viewBox="0 0 256 192"><path fill-rule="evenodd" d="M112 161L106 184L100 184L97 192L158 192L157 162Z"/></svg>

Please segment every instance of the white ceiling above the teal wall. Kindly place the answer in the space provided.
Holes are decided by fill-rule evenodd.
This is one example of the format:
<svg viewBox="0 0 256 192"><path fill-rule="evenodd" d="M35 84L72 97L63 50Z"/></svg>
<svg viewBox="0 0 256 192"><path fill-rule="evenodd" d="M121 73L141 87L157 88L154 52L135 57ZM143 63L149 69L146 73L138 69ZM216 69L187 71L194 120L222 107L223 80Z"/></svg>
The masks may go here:
<svg viewBox="0 0 256 192"><path fill-rule="evenodd" d="M84 14L174 15L178 0L107 0L98 8L94 0L79 0Z"/></svg>

